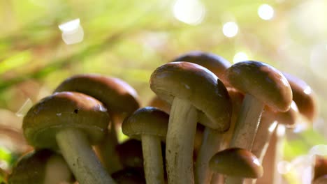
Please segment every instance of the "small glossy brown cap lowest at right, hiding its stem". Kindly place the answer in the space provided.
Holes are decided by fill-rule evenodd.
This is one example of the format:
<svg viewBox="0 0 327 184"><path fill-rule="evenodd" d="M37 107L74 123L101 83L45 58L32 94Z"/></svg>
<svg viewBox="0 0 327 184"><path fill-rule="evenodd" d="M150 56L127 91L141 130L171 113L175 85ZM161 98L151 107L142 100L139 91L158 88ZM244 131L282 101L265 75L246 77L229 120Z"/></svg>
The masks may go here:
<svg viewBox="0 0 327 184"><path fill-rule="evenodd" d="M240 178L260 178L263 167L259 159L243 148L227 148L216 153L209 161L212 171Z"/></svg>

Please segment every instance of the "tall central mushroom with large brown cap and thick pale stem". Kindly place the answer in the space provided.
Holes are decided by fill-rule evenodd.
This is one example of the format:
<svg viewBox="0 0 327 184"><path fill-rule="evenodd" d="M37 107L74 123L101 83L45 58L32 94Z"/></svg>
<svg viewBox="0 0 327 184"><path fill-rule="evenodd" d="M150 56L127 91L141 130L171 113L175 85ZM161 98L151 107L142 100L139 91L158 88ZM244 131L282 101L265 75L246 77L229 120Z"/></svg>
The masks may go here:
<svg viewBox="0 0 327 184"><path fill-rule="evenodd" d="M229 128L227 93L215 74L194 63L166 63L151 76L150 87L171 106L166 138L168 183L194 183L192 153L196 122L224 132ZM227 94L228 95L228 94Z"/></svg>

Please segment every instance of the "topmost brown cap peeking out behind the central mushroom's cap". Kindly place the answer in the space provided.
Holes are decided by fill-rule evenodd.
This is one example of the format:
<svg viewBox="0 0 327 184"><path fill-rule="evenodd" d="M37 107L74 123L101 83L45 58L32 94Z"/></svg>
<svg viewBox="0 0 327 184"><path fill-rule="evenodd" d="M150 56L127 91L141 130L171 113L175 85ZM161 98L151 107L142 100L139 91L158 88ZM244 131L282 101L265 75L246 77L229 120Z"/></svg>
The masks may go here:
<svg viewBox="0 0 327 184"><path fill-rule="evenodd" d="M231 63L221 56L216 54L201 52L201 51L191 51L181 56L178 56L172 62L176 61L186 61L190 63L196 63L204 68L207 68L213 72L217 77L221 79L224 71L231 67Z"/></svg>

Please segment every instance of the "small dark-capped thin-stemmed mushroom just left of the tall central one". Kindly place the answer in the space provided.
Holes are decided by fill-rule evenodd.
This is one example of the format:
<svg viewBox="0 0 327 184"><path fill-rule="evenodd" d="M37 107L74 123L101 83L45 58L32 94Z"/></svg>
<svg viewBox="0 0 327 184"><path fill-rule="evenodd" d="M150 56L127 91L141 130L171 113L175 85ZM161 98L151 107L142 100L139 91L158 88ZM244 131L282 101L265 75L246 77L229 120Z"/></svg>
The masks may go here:
<svg viewBox="0 0 327 184"><path fill-rule="evenodd" d="M138 109L125 118L125 135L141 139L147 183L164 183L161 140L166 139L169 115L154 107Z"/></svg>

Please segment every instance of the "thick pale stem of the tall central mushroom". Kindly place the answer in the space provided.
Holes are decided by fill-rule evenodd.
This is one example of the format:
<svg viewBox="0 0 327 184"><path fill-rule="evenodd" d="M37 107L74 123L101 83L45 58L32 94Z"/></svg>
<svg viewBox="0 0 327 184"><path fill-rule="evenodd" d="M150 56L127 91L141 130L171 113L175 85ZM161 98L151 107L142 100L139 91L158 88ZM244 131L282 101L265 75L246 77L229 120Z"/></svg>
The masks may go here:
<svg viewBox="0 0 327 184"><path fill-rule="evenodd" d="M198 112L187 100L175 98L166 138L166 167L169 184L194 183L193 149Z"/></svg>

